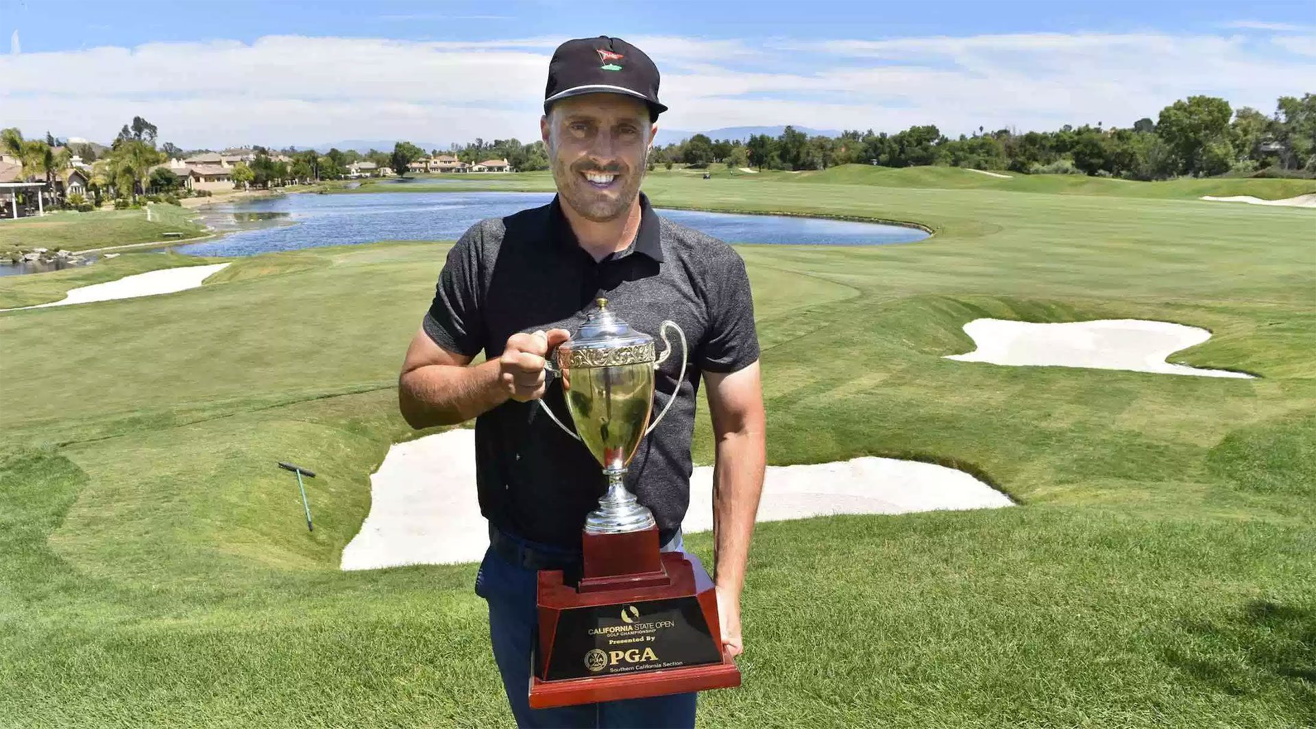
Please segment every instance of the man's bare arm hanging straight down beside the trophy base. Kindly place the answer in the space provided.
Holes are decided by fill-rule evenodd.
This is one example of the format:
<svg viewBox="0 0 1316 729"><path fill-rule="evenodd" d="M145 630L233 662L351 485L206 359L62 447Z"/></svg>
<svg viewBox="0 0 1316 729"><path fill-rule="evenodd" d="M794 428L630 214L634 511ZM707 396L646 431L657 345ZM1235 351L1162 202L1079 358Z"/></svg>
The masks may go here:
<svg viewBox="0 0 1316 729"><path fill-rule="evenodd" d="M749 542L763 491L766 418L758 362L730 374L704 372L713 420L717 461L713 466L713 579L722 642L744 650L740 597L745 586Z"/></svg>

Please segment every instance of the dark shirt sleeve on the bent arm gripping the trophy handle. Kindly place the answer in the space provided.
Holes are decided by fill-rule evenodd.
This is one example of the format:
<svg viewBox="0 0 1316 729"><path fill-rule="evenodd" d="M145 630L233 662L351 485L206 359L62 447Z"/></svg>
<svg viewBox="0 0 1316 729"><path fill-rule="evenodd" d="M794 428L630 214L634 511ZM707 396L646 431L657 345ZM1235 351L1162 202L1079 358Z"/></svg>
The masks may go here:
<svg viewBox="0 0 1316 729"><path fill-rule="evenodd" d="M484 349L480 336L484 318L480 311L479 239L476 224L447 251L434 287L434 300L421 322L436 345L465 357L475 357Z"/></svg>

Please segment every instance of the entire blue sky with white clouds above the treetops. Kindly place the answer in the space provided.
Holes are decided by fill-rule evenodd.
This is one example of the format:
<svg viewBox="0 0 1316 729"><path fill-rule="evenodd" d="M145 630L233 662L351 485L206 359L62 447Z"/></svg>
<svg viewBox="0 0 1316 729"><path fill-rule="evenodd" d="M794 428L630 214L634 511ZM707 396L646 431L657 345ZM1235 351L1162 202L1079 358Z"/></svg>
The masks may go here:
<svg viewBox="0 0 1316 729"><path fill-rule="evenodd" d="M1316 91L1305 3L105 3L0 0L0 126L183 146L537 138L557 42L663 72L672 129L1130 125Z"/></svg>

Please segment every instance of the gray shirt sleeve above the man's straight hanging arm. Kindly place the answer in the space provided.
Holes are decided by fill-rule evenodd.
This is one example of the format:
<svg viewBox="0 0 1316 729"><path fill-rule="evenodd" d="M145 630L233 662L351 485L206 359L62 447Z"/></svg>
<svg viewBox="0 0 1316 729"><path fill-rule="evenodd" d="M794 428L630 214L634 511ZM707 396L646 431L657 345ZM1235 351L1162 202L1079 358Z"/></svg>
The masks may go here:
<svg viewBox="0 0 1316 729"><path fill-rule="evenodd" d="M754 297L745 261L730 250L726 264L708 282L709 328L699 354L699 368L734 372L758 362L758 332L754 329Z"/></svg>

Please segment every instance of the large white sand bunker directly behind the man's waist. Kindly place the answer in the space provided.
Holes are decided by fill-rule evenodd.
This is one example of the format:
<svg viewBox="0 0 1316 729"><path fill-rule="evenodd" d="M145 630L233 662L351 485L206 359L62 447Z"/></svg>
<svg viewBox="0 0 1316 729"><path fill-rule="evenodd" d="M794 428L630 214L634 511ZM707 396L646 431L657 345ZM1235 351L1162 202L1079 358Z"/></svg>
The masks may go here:
<svg viewBox="0 0 1316 729"><path fill-rule="evenodd" d="M488 546L488 528L475 497L474 449L475 434L468 429L393 445L370 476L370 515L342 550L342 568L479 561ZM712 529L712 467L695 468L690 511L682 524L686 532ZM892 458L855 458L816 466L770 466L758 520L1008 505L1008 497L963 471Z"/></svg>

